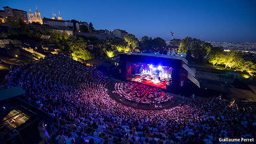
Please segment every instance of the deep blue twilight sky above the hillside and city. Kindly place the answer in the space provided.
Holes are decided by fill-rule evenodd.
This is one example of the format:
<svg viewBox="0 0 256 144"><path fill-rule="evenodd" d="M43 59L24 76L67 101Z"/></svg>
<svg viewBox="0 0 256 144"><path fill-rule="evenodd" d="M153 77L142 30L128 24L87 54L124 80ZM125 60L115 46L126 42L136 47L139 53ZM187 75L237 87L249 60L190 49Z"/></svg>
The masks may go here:
<svg viewBox="0 0 256 144"><path fill-rule="evenodd" d="M96 29L126 30L137 38L192 37L205 41L256 42L256 0L0 0L51 18L92 22Z"/></svg>

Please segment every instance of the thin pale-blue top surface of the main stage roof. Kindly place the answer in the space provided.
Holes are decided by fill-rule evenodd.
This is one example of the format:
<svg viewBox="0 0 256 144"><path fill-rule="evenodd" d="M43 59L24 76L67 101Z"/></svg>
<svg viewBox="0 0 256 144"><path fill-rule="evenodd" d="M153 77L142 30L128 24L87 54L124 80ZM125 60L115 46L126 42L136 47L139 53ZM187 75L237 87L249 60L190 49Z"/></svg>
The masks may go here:
<svg viewBox="0 0 256 144"><path fill-rule="evenodd" d="M124 55L144 55L144 56L154 56L158 58L172 58L172 59L179 59L184 61L186 64L188 64L188 61L186 58L182 58L180 56L174 56L174 55L160 55L160 54L152 54L152 53L119 53Z"/></svg>

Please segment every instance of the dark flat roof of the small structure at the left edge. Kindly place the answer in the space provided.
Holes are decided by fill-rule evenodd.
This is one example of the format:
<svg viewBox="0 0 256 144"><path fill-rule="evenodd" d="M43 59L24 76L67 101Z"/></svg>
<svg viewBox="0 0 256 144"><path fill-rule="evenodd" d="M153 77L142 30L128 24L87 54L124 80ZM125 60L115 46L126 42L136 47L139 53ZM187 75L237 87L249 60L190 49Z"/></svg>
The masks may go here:
<svg viewBox="0 0 256 144"><path fill-rule="evenodd" d="M18 95L25 94L26 92L20 87L20 86L15 86L13 88L9 89L2 89L0 90L0 101L12 98Z"/></svg>

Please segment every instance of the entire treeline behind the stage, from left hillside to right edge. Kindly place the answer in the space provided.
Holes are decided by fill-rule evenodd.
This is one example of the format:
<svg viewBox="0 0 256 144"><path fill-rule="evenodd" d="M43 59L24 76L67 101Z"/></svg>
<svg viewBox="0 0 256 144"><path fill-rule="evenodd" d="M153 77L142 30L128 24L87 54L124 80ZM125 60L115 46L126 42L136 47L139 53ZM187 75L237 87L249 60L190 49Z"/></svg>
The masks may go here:
<svg viewBox="0 0 256 144"><path fill-rule="evenodd" d="M41 43L55 44L57 48L64 52L69 52L74 59L82 58L84 60L91 58L109 58L119 52L139 52L139 53L157 53L166 55L169 48L166 47L165 40L160 37L152 39L144 36L138 40L133 34L127 34L123 39L98 40L96 37L72 36L68 37L57 31L34 29L25 24L21 19L8 17L7 23L10 28L8 31L2 31L0 37L11 39L32 39ZM42 35L51 35L49 39L40 39ZM213 47L210 43L199 39L185 37L183 40L173 39L171 44L178 47L178 53L185 53L188 61L198 63L210 63L213 65L224 65L225 68L234 68L241 72L256 72L256 58L248 58L241 52L232 50L224 52L223 47ZM88 46L93 45L93 49ZM115 49L115 50L114 50Z"/></svg>

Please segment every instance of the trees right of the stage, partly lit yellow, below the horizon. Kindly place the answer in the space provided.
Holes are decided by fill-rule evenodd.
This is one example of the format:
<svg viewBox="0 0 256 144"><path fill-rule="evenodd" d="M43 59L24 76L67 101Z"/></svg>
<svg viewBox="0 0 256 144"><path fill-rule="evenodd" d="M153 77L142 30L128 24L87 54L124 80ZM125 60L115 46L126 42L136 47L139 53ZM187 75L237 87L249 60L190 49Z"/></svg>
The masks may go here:
<svg viewBox="0 0 256 144"><path fill-rule="evenodd" d="M172 40L173 43L179 42L178 53L185 53L186 58L190 61L197 61L200 63L207 63L213 65L224 65L225 68L234 68L235 70L247 73L256 72L256 58L248 58L242 52L231 50L231 52L224 52L223 47L213 47L210 43L185 37L183 40Z"/></svg>

